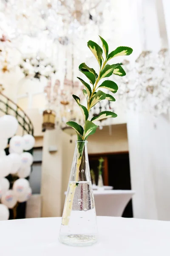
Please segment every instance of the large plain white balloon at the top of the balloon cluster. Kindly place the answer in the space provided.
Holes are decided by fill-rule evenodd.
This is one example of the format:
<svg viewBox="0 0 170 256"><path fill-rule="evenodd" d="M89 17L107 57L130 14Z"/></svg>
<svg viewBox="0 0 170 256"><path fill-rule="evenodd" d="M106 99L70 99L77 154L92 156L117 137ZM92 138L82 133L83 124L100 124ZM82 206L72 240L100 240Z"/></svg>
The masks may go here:
<svg viewBox="0 0 170 256"><path fill-rule="evenodd" d="M11 138L17 132L18 121L14 116L5 115L0 117L0 134L4 138Z"/></svg>

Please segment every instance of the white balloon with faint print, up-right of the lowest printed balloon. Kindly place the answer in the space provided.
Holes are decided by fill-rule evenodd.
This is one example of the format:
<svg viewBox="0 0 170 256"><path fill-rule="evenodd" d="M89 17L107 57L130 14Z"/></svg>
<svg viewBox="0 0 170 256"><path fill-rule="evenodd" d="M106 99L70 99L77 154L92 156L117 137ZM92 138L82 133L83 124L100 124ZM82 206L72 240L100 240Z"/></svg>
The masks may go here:
<svg viewBox="0 0 170 256"><path fill-rule="evenodd" d="M13 190L17 197L21 195L25 195L28 188L29 188L29 182L28 180L23 178L16 180L13 184Z"/></svg>

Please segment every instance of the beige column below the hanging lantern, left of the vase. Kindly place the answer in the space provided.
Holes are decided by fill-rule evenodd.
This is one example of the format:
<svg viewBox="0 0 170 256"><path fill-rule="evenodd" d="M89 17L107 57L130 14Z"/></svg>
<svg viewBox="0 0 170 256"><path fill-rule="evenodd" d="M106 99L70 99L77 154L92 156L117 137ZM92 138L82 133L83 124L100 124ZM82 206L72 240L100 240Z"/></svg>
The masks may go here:
<svg viewBox="0 0 170 256"><path fill-rule="evenodd" d="M57 152L49 152L56 146ZM42 155L42 217L61 216L62 191L62 131L45 131Z"/></svg>

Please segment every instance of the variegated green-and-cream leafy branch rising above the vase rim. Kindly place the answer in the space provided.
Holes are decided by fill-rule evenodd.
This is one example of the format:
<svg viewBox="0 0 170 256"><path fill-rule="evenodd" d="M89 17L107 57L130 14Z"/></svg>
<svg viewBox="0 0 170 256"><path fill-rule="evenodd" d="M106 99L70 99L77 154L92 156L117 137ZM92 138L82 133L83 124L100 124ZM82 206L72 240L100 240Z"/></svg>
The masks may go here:
<svg viewBox="0 0 170 256"><path fill-rule="evenodd" d="M115 101L115 98L111 94L104 93L101 89L107 89L111 93L116 93L118 90L118 86L114 81L105 80L102 84L99 85L99 81L101 79L107 78L112 74L116 76L125 76L125 70L122 68L122 63L116 64L108 64L114 57L130 55L133 52L133 49L130 47L120 46L117 47L114 51L109 53L108 43L99 36L102 42L102 48L93 41L88 41L88 48L96 57L96 60L99 64L99 74L96 71L88 67L85 63L79 65L79 71L82 72L89 80L90 84L86 83L83 79L78 79L84 85L83 94L87 99L87 106L84 106L80 103L80 99L78 96L73 95L73 98L79 105L80 110L82 111L82 115L84 117L85 125L84 128L77 124L76 122L67 122L67 125L71 126L77 132L78 140L87 140L89 135L92 135L96 132L97 125L94 124L95 121L99 121L101 119L106 119L109 117L116 117L116 113L111 111L102 111L98 116L93 117L91 120L88 120L89 112L91 108L93 108L98 102L101 100L107 99L109 101ZM103 51L105 53L105 57L103 57ZM80 152L81 157L81 152Z"/></svg>

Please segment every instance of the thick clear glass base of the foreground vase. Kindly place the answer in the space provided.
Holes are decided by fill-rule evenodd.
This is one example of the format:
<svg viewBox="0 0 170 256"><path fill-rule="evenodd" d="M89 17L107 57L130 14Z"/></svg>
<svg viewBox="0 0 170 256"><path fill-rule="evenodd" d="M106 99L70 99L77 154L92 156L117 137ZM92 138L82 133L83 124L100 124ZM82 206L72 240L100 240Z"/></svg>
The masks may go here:
<svg viewBox="0 0 170 256"><path fill-rule="evenodd" d="M61 235L59 236L59 241L62 244L67 244L70 246L89 246L97 241L96 235Z"/></svg>

